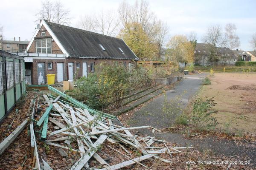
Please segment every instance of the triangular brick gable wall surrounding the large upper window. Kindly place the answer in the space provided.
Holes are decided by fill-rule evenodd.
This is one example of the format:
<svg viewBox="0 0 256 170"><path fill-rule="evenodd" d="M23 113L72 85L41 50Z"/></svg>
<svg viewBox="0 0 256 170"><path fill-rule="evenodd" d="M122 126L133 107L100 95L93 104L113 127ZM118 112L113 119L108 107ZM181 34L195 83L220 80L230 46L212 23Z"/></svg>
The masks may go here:
<svg viewBox="0 0 256 170"><path fill-rule="evenodd" d="M51 36L49 32L46 30L44 26L41 26L40 30L38 31L38 34L35 37L41 37L41 32L46 32L46 36ZM43 38L43 37L42 37ZM35 45L35 40L33 40L29 50L29 53L35 53L36 52L36 45ZM52 54L63 54L61 49L58 47L55 41L52 41Z"/></svg>

